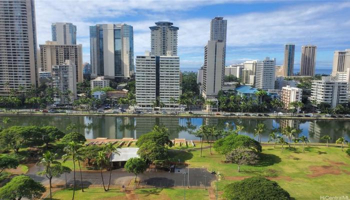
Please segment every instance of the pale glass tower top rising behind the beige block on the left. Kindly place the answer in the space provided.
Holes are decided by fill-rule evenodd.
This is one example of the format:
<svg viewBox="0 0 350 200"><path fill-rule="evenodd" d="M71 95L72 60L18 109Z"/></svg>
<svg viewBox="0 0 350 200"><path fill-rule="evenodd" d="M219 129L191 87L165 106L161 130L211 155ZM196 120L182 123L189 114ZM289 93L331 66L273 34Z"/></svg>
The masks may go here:
<svg viewBox="0 0 350 200"><path fill-rule="evenodd" d="M52 41L58 44L76 44L76 25L66 22L51 24Z"/></svg>

